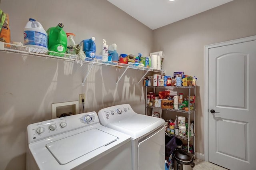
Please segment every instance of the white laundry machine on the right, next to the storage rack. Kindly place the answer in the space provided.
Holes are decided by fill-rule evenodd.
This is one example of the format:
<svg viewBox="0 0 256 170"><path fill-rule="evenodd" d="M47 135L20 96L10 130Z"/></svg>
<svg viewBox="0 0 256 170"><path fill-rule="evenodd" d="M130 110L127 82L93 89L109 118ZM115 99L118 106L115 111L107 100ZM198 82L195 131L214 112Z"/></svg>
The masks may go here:
<svg viewBox="0 0 256 170"><path fill-rule="evenodd" d="M164 120L135 113L129 104L98 112L100 123L132 136L132 169L165 169Z"/></svg>

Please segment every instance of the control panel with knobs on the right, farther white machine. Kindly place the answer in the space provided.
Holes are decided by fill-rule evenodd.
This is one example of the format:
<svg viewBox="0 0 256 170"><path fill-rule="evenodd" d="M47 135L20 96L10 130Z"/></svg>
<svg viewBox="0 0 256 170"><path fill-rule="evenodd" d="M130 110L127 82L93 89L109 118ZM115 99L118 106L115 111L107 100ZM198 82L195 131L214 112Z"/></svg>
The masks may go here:
<svg viewBox="0 0 256 170"><path fill-rule="evenodd" d="M116 105L116 106L101 109L98 112L98 117L100 119L100 123L103 126L106 126L108 125L108 123L125 119L126 117L129 117L132 114L137 114L137 113L135 113L132 110L132 107L129 104L123 104L123 105Z"/></svg>

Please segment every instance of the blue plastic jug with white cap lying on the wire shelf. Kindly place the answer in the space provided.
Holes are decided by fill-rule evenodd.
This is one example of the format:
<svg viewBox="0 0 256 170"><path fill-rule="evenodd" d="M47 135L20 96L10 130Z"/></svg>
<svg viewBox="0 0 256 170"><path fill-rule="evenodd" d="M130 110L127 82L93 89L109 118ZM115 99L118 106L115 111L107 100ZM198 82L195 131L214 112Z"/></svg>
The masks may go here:
<svg viewBox="0 0 256 170"><path fill-rule="evenodd" d="M84 51L86 57L95 58L96 45L95 37L80 42L80 48Z"/></svg>

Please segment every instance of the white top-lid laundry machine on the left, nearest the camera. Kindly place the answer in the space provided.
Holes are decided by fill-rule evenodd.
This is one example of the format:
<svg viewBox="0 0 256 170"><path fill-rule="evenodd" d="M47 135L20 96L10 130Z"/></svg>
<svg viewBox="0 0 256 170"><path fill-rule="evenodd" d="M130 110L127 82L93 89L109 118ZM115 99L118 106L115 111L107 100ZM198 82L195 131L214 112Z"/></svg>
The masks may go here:
<svg viewBox="0 0 256 170"><path fill-rule="evenodd" d="M96 112L28 125L28 170L131 170L131 137L100 125Z"/></svg>

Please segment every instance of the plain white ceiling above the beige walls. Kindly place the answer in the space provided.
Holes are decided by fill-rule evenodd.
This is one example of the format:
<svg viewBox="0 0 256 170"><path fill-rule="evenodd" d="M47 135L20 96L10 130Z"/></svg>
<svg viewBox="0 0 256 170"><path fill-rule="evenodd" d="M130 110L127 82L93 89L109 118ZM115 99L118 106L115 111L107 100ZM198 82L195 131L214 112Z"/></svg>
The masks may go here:
<svg viewBox="0 0 256 170"><path fill-rule="evenodd" d="M108 0L152 30L232 0Z"/></svg>

